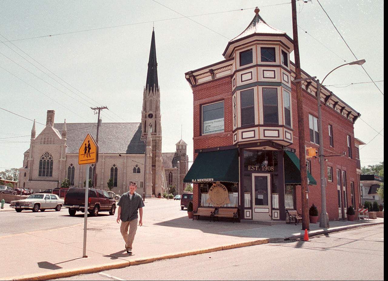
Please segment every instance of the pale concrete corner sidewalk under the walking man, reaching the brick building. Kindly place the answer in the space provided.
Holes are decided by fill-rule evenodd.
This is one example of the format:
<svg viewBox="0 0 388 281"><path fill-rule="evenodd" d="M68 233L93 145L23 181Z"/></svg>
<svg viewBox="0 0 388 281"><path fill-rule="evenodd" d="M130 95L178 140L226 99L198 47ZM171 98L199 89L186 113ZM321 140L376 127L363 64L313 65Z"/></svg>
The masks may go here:
<svg viewBox="0 0 388 281"><path fill-rule="evenodd" d="M66 213L60 212L66 219ZM192 221L173 200L147 200L144 224L137 228L133 255L124 250L116 215L88 222L87 258L82 258L83 219L80 223L46 231L0 237L3 259L0 279L52 279L154 260L258 245L303 235L301 224L265 226L232 222ZM330 222L328 231L383 223ZM310 236L326 229L310 224ZM14 277L10 277L14 276Z"/></svg>

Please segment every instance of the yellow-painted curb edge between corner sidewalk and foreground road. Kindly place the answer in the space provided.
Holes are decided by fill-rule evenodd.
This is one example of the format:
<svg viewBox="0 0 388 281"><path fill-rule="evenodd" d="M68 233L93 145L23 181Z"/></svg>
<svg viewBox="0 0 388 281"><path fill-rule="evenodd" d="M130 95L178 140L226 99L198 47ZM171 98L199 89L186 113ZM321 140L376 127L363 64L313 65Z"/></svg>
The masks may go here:
<svg viewBox="0 0 388 281"><path fill-rule="evenodd" d="M317 231L314 233L310 233L309 236L317 236L321 234L327 234L327 233L333 233L333 232L339 232L347 229L352 228L359 228L359 227L365 227L365 226L375 226L379 224L384 224L384 222L372 222L370 224L362 224L362 225L352 225L352 226L346 226L344 228L339 229L332 229L332 230L322 230ZM203 248L199 250L189 250L184 252L177 252L177 253L171 253L167 255L158 255L154 257L144 257L141 259L133 259L128 261L120 261L120 262L112 262L109 264L101 264L101 265L95 265L95 266L88 266L88 267L80 267L77 269L70 269L70 270L60 270L55 272L48 272L48 273L40 273L40 274L30 274L30 275L22 275L22 276L13 276L13 277L7 277L3 280L49 280L49 279L57 279L57 278L66 278L71 277L79 274L90 274L90 273L97 273L100 271L110 270L110 269L119 269L128 267L131 265L140 265L140 264L148 264L151 262L154 262L156 260L166 260L166 259L175 259L179 257L187 257L191 255L198 255L202 253L211 253L211 252L218 252L223 250L230 250L235 248L242 248L242 247L249 247L249 246L255 246L255 245L261 245L261 244L267 244L267 243L276 243L276 242L282 242L282 241L288 241L288 240L296 240L299 238L302 238L303 235L297 235L297 236L290 236L286 238L264 238L260 240L253 240L253 241L247 241L242 243L235 243L235 244L228 244L218 247L211 247L211 248Z"/></svg>

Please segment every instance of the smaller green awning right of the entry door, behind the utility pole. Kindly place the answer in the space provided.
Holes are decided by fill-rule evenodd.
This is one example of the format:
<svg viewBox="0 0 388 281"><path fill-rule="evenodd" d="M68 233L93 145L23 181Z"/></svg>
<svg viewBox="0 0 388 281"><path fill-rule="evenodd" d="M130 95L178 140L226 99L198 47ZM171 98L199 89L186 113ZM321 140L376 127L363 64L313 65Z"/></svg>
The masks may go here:
<svg viewBox="0 0 388 281"><path fill-rule="evenodd" d="M317 181L307 171L308 184L316 185ZM300 162L298 156L290 151L284 151L284 184L300 184Z"/></svg>

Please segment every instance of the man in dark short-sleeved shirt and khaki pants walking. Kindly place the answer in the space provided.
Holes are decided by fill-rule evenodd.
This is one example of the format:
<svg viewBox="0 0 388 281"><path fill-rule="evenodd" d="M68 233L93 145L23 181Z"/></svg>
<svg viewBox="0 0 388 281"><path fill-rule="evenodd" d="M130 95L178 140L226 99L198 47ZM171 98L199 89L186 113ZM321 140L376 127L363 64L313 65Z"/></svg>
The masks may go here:
<svg viewBox="0 0 388 281"><path fill-rule="evenodd" d="M137 229L137 210L139 210L140 220L139 226L143 225L143 207L144 202L139 193L136 193L137 184L131 181L129 191L121 196L117 205L119 206L117 211L117 223L120 222L120 232L125 241L125 250L128 255L132 255L132 243L135 238ZM129 228L129 232L128 232Z"/></svg>

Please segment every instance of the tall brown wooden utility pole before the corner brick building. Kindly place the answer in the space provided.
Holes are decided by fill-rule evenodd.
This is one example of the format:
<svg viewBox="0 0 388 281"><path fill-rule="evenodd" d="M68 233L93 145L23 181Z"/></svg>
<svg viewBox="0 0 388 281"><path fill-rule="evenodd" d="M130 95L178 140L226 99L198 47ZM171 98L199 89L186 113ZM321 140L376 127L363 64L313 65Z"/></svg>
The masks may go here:
<svg viewBox="0 0 388 281"><path fill-rule="evenodd" d="M298 43L298 23L296 21L296 0L291 0L292 7L292 26L295 57L295 80L301 79L300 75L300 57ZM306 149L305 149L305 122L303 118L303 96L301 81L296 82L296 105L298 107L298 140L299 140L299 159L300 159L300 180L302 190L302 229L310 230L310 218L308 214L308 191L307 191L307 167L306 167Z"/></svg>

